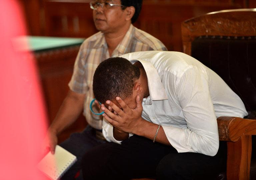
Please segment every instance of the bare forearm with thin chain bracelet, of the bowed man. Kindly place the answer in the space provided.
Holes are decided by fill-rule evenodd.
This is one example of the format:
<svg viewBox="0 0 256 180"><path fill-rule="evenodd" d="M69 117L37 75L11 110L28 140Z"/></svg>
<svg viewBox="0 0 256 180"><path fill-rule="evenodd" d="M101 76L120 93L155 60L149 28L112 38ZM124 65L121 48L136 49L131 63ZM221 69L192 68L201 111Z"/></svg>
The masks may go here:
<svg viewBox="0 0 256 180"><path fill-rule="evenodd" d="M158 126L159 126L158 124L154 124L143 119L140 122L140 124L137 126L137 128L134 130L134 132L132 133L152 139L153 141L156 135ZM165 145L171 145L164 133L162 126L160 126L158 130L155 141Z"/></svg>

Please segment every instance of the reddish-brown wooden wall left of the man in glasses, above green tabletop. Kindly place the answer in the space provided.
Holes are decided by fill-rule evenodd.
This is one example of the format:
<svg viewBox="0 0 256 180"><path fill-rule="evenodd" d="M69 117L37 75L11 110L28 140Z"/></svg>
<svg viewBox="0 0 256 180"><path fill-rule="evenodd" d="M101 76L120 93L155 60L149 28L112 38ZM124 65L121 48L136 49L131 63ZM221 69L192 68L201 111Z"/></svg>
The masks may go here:
<svg viewBox="0 0 256 180"><path fill-rule="evenodd" d="M46 36L86 38L97 32L89 3L46 1Z"/></svg>

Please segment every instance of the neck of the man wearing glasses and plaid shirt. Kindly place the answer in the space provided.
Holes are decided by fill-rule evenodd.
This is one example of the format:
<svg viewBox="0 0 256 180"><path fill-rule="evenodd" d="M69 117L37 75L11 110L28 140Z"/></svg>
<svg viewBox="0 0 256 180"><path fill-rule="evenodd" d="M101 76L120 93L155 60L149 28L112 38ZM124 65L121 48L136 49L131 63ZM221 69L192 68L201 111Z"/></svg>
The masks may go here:
<svg viewBox="0 0 256 180"><path fill-rule="evenodd" d="M112 52L115 50L117 45L119 45L120 42L123 40L129 28L130 24L127 23L125 26L115 32L104 33L110 56L112 55Z"/></svg>

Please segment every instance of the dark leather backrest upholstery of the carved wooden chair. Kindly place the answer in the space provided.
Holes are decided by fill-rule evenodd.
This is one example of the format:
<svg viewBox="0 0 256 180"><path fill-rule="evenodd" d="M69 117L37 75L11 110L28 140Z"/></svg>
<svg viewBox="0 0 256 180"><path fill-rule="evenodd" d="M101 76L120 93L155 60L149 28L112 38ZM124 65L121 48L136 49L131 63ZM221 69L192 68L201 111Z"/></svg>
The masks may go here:
<svg viewBox="0 0 256 180"><path fill-rule="evenodd" d="M255 117L256 36L203 36L192 42L191 56L214 70L239 95Z"/></svg>

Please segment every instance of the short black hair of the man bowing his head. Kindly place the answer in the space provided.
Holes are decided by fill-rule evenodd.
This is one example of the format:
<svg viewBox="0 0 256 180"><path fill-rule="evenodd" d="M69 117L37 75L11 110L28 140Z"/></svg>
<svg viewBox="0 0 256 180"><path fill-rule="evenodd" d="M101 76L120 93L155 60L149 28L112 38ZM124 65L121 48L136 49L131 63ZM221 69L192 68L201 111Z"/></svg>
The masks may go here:
<svg viewBox="0 0 256 180"><path fill-rule="evenodd" d="M105 103L117 96L125 99L132 95L135 80L140 77L140 69L122 57L111 57L99 64L93 76L95 98Z"/></svg>

